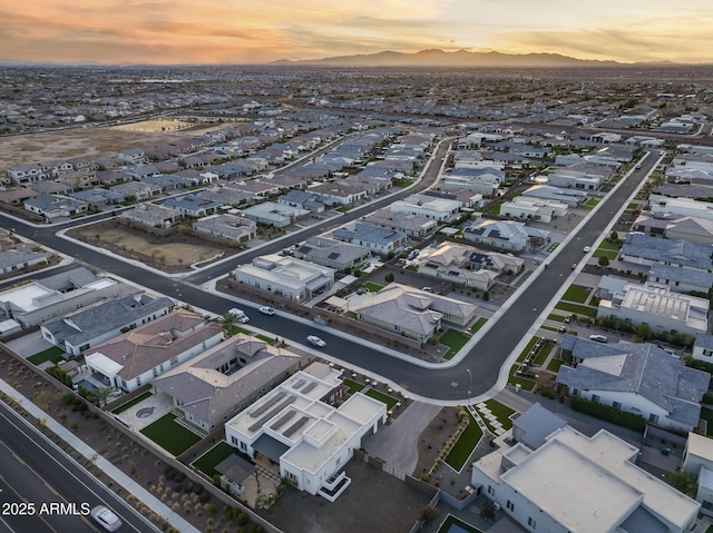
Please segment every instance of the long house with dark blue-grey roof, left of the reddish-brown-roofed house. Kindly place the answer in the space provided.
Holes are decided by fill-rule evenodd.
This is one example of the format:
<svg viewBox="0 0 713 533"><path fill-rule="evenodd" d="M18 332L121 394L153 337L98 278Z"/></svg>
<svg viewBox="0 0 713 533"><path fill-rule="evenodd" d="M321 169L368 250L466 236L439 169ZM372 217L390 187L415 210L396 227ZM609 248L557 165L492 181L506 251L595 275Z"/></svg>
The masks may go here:
<svg viewBox="0 0 713 533"><path fill-rule="evenodd" d="M79 355L124 330L155 320L173 308L174 302L165 296L152 298L143 293L128 294L47 322L40 326L40 332L42 338L55 346L70 355Z"/></svg>

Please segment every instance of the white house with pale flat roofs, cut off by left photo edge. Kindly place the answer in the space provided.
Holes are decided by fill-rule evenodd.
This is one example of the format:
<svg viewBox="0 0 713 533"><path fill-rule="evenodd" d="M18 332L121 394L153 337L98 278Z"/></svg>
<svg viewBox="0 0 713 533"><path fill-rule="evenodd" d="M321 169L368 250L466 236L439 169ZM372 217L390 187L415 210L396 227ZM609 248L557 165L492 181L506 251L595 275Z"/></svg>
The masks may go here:
<svg viewBox="0 0 713 533"><path fill-rule="evenodd" d="M118 294L114 279L77 267L0 293L0 318L4 315L28 328Z"/></svg>

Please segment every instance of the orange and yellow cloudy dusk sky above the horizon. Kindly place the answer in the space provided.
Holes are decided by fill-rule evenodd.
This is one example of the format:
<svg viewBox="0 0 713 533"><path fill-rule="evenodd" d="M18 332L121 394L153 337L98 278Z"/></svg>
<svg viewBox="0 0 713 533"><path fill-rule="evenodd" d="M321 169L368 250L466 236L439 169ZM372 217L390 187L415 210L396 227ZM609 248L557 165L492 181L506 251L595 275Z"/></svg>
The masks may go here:
<svg viewBox="0 0 713 533"><path fill-rule="evenodd" d="M586 3L586 4L585 4ZM713 63L711 0L22 0L0 59L258 63L383 50Z"/></svg>

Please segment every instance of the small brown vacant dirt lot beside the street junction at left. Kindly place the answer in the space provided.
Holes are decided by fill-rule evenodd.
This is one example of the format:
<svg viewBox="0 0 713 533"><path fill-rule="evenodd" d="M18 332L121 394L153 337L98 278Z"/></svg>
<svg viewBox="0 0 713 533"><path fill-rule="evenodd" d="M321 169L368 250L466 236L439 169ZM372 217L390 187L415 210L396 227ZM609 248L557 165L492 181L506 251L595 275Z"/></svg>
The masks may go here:
<svg viewBox="0 0 713 533"><path fill-rule="evenodd" d="M185 272L193 263L217 260L237 251L192 235L177 233L160 237L114 220L75 228L67 231L67 235L167 273ZM216 257L217 254L223 256Z"/></svg>

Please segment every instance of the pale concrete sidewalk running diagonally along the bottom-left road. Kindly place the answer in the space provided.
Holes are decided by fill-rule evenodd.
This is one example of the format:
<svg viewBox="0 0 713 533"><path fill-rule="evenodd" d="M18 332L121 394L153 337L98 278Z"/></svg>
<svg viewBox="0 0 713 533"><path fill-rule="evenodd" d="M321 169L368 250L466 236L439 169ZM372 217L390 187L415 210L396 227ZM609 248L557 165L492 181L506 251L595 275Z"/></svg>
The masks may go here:
<svg viewBox="0 0 713 533"><path fill-rule="evenodd" d="M148 507L150 507L156 514L166 519L166 521L176 527L182 533L191 532L191 533L199 533L199 530L194 527L191 523L186 522L183 516L178 515L175 511L172 511L168 506L166 506L160 500L155 497L150 492L144 488L141 485L131 480L128 475L117 468L109 461L99 455L94 448L89 447L81 441L77 435L62 426L59 422L53 420L42 409L40 409L37 405L35 405L30 399L20 394L13 387L8 385L4 381L0 379L0 391L6 393L8 396L17 401L25 411L30 413L37 420L47 421L46 426L49 427L55 434L57 434L62 441L69 444L72 448L79 452L81 455L94 462L97 467L101 468L111 480L120 485L125 491L130 494L134 494L137 500L145 503ZM81 465L79 465L82 467Z"/></svg>

